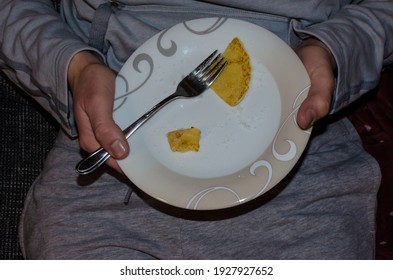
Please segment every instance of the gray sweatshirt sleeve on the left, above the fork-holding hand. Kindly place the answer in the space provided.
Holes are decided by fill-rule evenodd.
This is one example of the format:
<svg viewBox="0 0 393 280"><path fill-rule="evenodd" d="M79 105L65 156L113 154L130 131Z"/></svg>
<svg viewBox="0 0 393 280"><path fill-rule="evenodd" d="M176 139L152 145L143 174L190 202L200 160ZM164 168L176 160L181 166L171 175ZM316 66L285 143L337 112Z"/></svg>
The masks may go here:
<svg viewBox="0 0 393 280"><path fill-rule="evenodd" d="M90 48L50 0L2 0L0 18L0 69L76 135L67 69L75 53Z"/></svg>

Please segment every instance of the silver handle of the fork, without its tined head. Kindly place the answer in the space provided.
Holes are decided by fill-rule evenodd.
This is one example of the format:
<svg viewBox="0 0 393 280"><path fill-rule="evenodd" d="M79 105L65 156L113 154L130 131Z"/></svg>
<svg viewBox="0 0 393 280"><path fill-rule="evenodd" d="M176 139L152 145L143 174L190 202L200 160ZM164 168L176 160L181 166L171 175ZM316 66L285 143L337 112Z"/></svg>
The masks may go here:
<svg viewBox="0 0 393 280"><path fill-rule="evenodd" d="M133 122L130 126L123 130L123 133L128 139L139 127L141 127L148 119L150 119L155 113L157 113L161 108L163 108L169 102L180 97L178 94L174 93L167 98L163 99L161 102L157 103L153 108L147 111L143 116ZM100 167L104 162L106 162L111 155L100 147L91 153L86 158L82 159L75 167L79 174L85 175L93 172L98 167Z"/></svg>

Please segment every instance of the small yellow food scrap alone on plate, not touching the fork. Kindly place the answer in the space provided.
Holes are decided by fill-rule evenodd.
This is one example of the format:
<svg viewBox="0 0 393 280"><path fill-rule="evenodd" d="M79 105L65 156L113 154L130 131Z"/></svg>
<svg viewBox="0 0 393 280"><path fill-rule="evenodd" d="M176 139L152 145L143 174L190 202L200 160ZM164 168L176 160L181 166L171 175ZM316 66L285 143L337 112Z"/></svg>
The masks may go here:
<svg viewBox="0 0 393 280"><path fill-rule="evenodd" d="M174 152L198 152L201 131L191 127L170 131L167 134L169 146Z"/></svg>

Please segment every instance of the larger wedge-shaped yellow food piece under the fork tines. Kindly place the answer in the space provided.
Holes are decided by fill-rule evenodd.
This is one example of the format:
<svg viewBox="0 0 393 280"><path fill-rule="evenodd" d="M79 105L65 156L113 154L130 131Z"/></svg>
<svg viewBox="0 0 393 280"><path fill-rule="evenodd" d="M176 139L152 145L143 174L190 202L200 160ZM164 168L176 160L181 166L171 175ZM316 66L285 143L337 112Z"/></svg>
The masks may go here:
<svg viewBox="0 0 393 280"><path fill-rule="evenodd" d="M250 57L237 37L227 46L223 56L228 64L211 88L227 104L235 106L248 90L251 79Z"/></svg>

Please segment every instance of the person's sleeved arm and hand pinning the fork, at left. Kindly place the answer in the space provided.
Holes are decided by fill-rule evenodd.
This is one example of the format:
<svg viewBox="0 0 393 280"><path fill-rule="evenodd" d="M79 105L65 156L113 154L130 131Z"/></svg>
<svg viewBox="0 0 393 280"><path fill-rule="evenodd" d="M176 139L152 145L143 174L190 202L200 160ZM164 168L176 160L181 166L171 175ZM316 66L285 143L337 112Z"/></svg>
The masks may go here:
<svg viewBox="0 0 393 280"><path fill-rule="evenodd" d="M83 149L103 146L124 158L128 142L112 119L115 74L102 57L68 28L50 0L2 0L0 17L1 69L65 131L78 134ZM108 163L120 171L114 160Z"/></svg>

